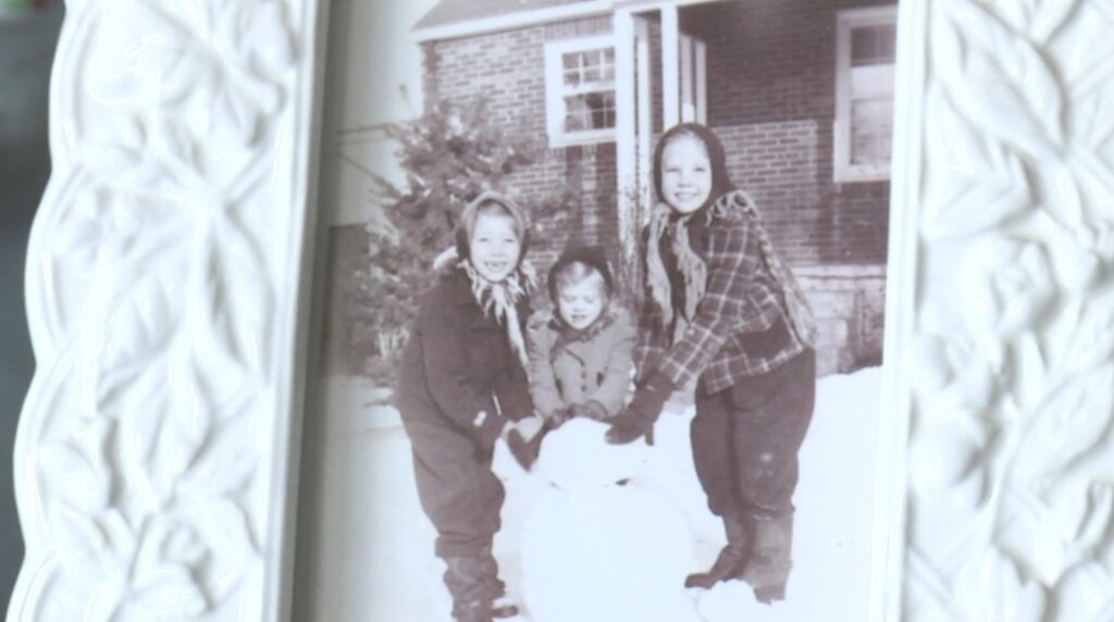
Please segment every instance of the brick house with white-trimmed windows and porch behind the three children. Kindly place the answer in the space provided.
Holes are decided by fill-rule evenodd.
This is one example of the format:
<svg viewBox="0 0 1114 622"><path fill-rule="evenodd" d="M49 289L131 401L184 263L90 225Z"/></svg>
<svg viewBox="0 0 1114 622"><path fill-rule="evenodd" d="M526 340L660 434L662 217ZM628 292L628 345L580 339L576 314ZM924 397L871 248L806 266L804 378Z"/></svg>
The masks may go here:
<svg viewBox="0 0 1114 622"><path fill-rule="evenodd" d="M487 98L545 136L510 186L538 223L632 258L656 136L697 120L723 139L774 243L817 308L821 373L881 358L896 6L877 0L442 0L416 26L426 101ZM549 230L546 230L547 227Z"/></svg>

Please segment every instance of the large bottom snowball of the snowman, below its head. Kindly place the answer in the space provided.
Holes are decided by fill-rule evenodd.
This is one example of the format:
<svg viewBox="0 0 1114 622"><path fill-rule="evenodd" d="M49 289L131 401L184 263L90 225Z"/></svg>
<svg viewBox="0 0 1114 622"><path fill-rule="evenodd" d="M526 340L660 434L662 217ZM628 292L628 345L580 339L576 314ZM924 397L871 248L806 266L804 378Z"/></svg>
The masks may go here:
<svg viewBox="0 0 1114 622"><path fill-rule="evenodd" d="M534 622L696 622L681 513L636 484L543 491L525 519L522 601Z"/></svg>

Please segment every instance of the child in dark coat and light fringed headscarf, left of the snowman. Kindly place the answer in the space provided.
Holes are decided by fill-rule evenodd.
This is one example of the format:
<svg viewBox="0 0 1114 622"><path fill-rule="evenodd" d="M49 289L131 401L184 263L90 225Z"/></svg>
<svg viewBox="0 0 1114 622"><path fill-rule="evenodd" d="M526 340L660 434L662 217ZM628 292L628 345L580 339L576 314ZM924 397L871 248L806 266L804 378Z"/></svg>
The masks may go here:
<svg viewBox="0 0 1114 622"><path fill-rule="evenodd" d="M522 260L527 225L515 204L483 194L460 217L459 263L421 303L400 369L397 405L413 447L422 509L459 622L517 614L499 604L491 555L504 487L491 452L508 419L534 412L522 323L534 273Z"/></svg>

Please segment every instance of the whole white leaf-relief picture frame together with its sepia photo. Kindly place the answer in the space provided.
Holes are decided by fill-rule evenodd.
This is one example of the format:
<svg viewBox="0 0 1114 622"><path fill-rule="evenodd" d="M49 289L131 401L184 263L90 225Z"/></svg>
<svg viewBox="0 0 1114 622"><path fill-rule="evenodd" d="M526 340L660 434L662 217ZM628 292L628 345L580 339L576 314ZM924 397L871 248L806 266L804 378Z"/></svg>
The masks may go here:
<svg viewBox="0 0 1114 622"><path fill-rule="evenodd" d="M9 620L1111 618L1102 2L67 11ZM737 200L690 206L713 189L677 190L685 167ZM696 213L762 231L736 255L775 293L751 333L782 327L778 363L729 365L707 349L727 335L692 336L732 239L687 237ZM616 412L541 413L544 438L504 428L529 413L496 399L452 424L482 451L421 445L405 347L457 324L431 324L434 305L422 325L419 295L444 269L506 284L489 229L539 273L476 319L521 386L549 322L579 322L559 295L578 282L551 295L547 277L580 247L637 356L646 309L677 310L656 320L664 358L631 366L670 369L646 362L678 343L711 361L638 374ZM465 292L459 308L496 296ZM804 352L814 371L793 366ZM709 461L771 402L751 377L778 369L801 388L774 393L812 406L778 409L807 412L795 435L736 434ZM615 418L646 412L648 428ZM543 438L528 467L511 432ZM779 456L776 502L744 495L766 513L734 520L716 478ZM457 537L477 521L482 554Z"/></svg>

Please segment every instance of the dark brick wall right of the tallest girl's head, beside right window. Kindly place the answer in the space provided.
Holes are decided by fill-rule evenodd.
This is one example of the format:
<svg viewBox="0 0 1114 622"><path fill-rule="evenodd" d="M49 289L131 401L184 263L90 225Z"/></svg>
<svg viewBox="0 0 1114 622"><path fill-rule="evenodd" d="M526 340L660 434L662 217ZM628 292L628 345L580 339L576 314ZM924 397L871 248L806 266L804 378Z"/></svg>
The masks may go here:
<svg viewBox="0 0 1114 622"><path fill-rule="evenodd" d="M681 13L707 46L709 125L795 265L886 261L889 182L832 180L836 17L879 3L747 0Z"/></svg>

